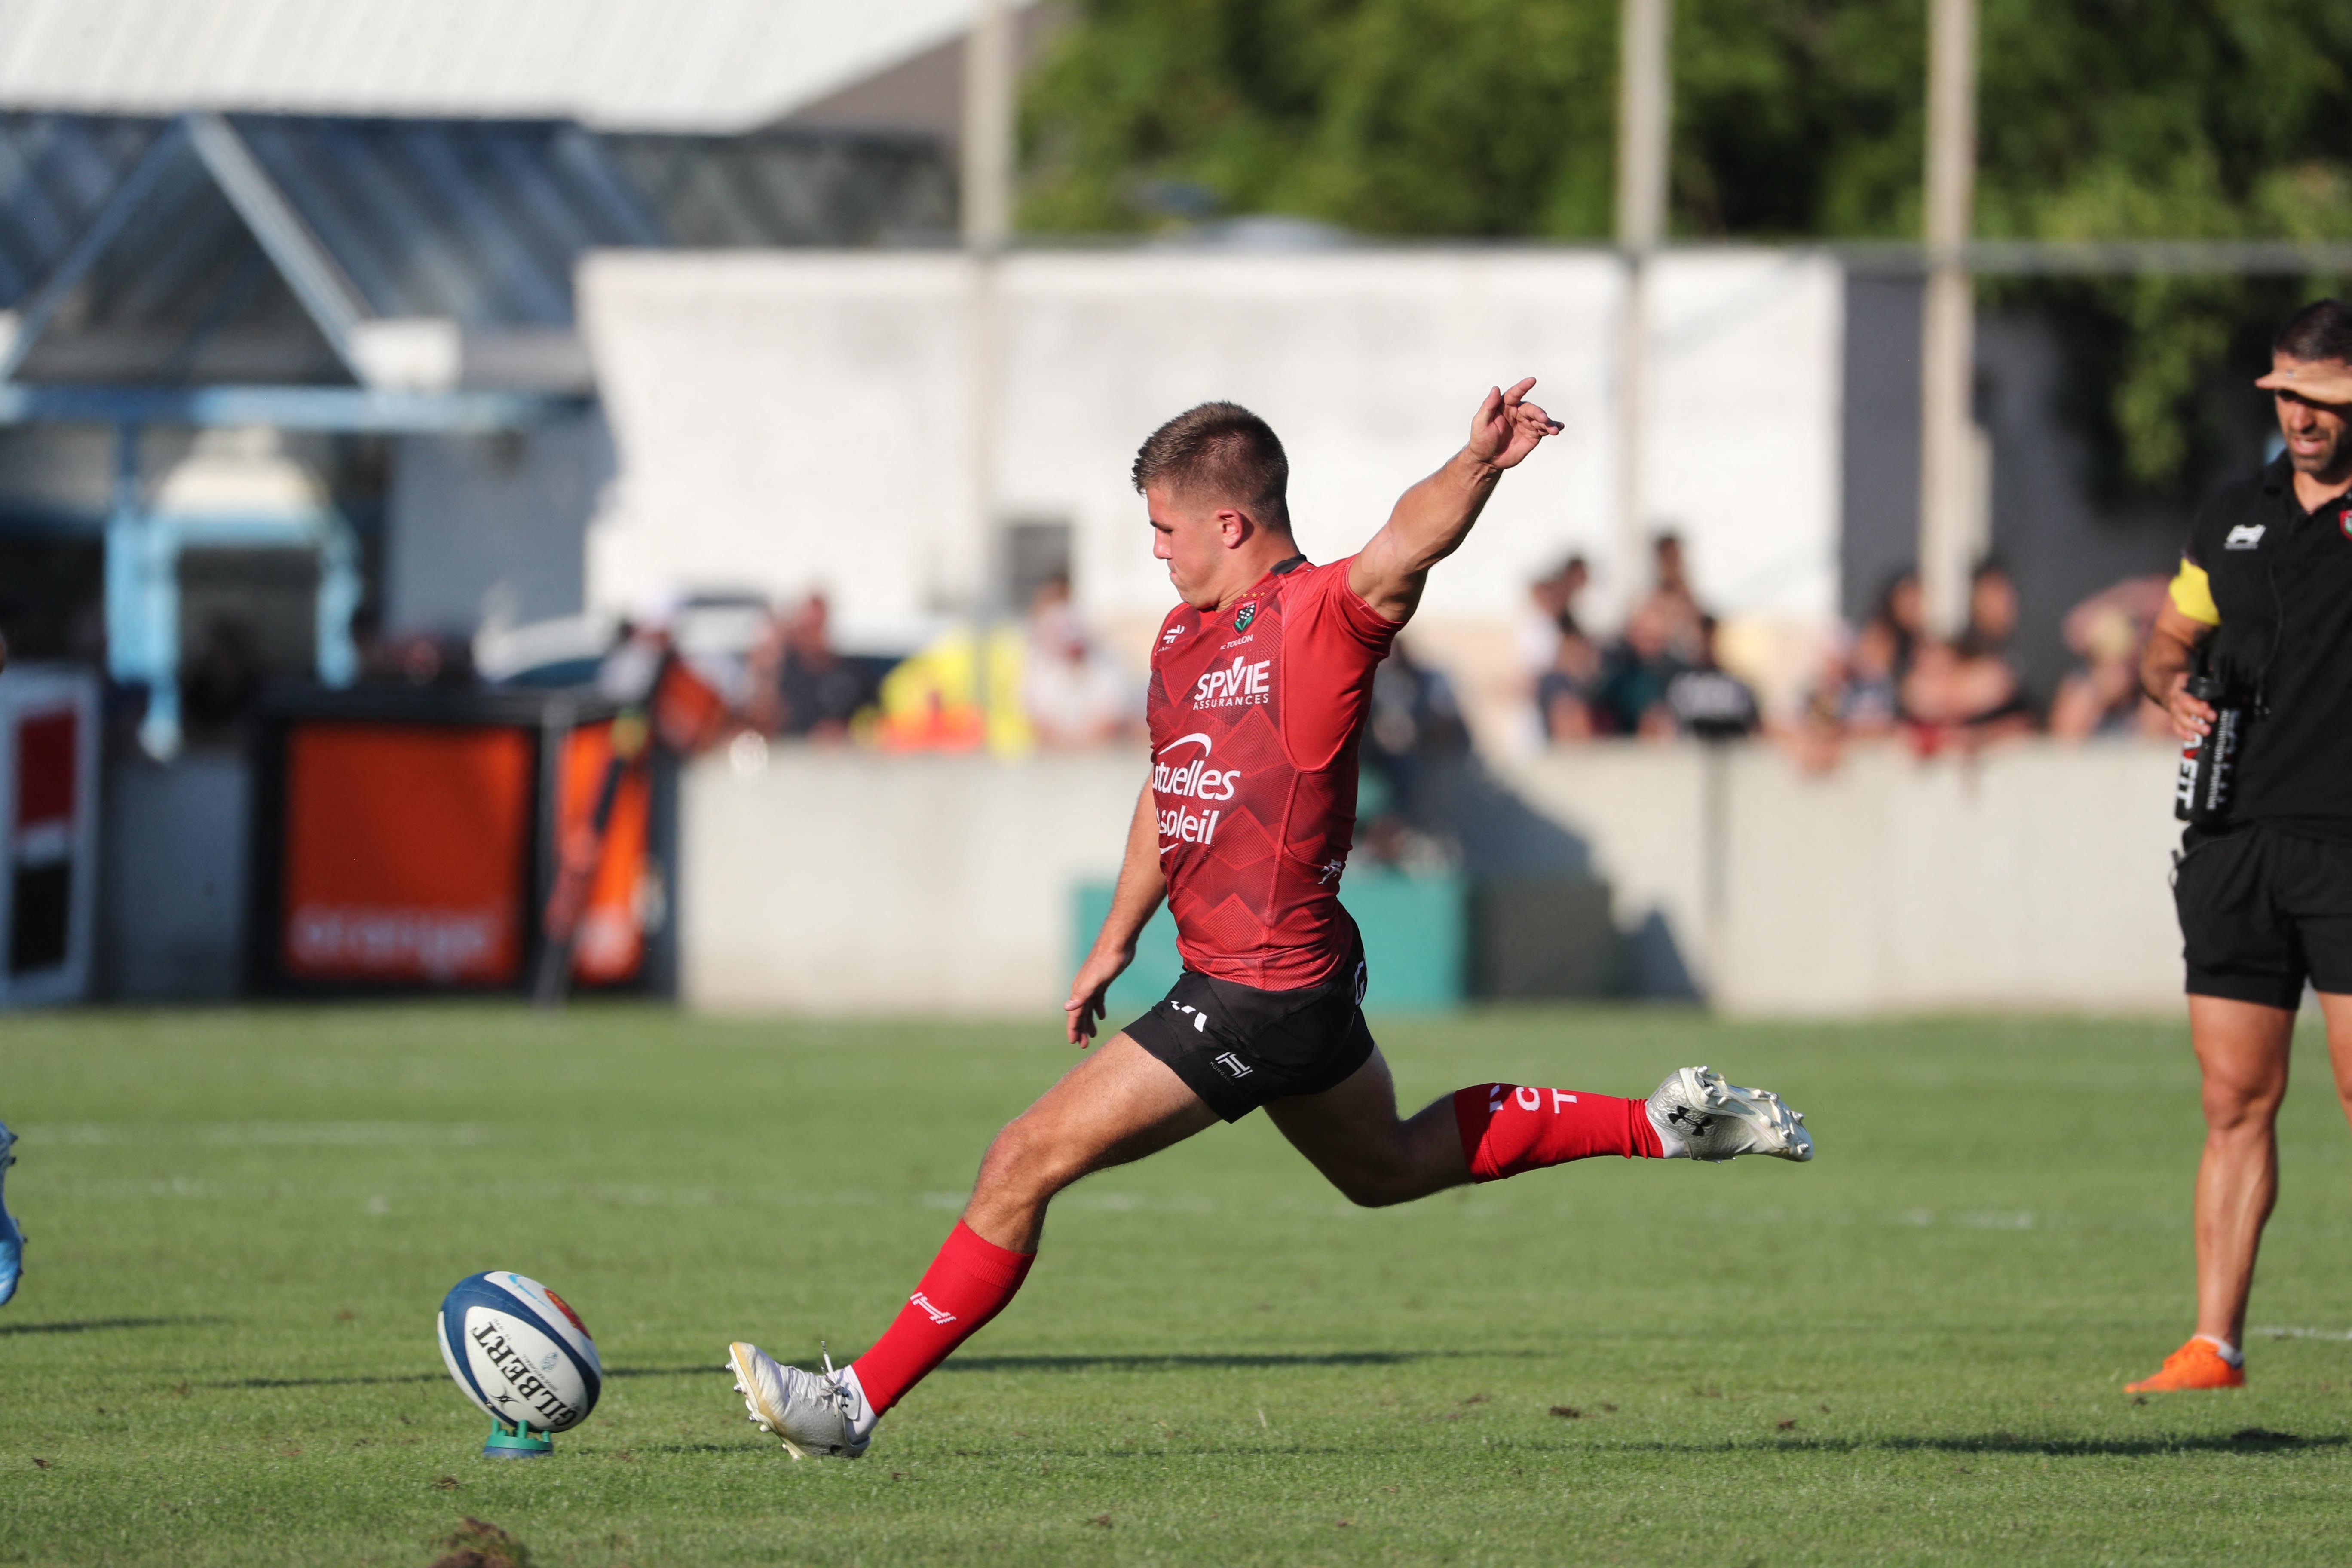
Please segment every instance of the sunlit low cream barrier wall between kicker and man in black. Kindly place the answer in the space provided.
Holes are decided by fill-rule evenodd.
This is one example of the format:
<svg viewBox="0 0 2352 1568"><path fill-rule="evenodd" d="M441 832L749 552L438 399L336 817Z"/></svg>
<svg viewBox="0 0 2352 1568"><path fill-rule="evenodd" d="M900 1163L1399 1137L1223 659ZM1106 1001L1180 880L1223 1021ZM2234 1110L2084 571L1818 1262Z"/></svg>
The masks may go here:
<svg viewBox="0 0 2352 1568"><path fill-rule="evenodd" d="M1882 745L1804 773L1769 748L1595 748L1505 776L1590 839L1621 926L1665 917L1726 1011L2147 1011L2180 1004L2176 759Z"/></svg>

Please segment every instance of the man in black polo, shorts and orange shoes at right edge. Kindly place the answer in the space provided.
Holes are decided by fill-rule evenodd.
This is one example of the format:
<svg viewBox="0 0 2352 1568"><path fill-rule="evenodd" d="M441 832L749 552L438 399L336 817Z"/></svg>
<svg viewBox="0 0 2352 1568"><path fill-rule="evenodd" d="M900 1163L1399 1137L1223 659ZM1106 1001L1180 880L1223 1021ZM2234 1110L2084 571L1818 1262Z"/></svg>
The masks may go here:
<svg viewBox="0 0 2352 1568"><path fill-rule="evenodd" d="M2298 310L2256 386L2286 449L2197 515L2140 663L2183 745L2218 755L2211 738L2234 729L2237 759L2173 879L2206 1114L2197 1335L2133 1392L2246 1382L2246 1291L2279 1194L2305 980L2352 1114L2352 306Z"/></svg>

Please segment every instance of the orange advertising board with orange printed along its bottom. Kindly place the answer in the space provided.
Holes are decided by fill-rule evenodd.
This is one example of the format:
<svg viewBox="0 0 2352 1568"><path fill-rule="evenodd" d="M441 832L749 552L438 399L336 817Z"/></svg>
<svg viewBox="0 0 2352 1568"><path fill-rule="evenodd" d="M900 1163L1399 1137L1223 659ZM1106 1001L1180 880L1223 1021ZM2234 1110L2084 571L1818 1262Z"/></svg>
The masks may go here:
<svg viewBox="0 0 2352 1568"><path fill-rule="evenodd" d="M306 980L515 985L532 856L522 726L287 736L280 961Z"/></svg>

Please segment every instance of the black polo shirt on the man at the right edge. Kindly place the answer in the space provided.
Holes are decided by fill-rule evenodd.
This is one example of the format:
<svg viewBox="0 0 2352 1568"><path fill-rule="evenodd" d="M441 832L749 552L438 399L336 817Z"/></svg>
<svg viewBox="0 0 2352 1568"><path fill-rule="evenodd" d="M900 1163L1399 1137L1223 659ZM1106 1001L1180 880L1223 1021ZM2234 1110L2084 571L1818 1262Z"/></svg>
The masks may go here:
<svg viewBox="0 0 2352 1568"><path fill-rule="evenodd" d="M2305 512L2281 454L2225 484L2183 550L2220 616L2213 661L2253 698L2232 820L2352 844L2352 496Z"/></svg>

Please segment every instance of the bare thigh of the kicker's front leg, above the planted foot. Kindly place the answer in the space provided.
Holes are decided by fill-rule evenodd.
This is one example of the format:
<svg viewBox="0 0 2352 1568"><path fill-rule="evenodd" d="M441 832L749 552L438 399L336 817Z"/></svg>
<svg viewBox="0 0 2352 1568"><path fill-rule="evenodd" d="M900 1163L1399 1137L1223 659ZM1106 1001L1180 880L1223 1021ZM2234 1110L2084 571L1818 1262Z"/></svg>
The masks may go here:
<svg viewBox="0 0 2352 1568"><path fill-rule="evenodd" d="M1124 1030L1094 1046L990 1147L1049 1182L1157 1154L1211 1126L1216 1112Z"/></svg>

